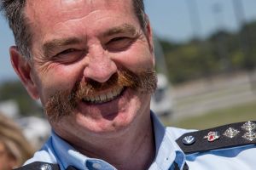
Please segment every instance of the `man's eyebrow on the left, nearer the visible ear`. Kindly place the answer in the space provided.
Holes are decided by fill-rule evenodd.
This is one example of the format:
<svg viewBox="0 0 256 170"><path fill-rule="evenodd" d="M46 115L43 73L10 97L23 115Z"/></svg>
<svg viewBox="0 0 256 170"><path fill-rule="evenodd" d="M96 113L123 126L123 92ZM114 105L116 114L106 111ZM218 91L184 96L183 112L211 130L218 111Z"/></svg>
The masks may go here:
<svg viewBox="0 0 256 170"><path fill-rule="evenodd" d="M82 40L77 37L53 39L49 42L45 42L43 45L44 56L49 56L50 52L56 47L64 47L72 44L79 44Z"/></svg>

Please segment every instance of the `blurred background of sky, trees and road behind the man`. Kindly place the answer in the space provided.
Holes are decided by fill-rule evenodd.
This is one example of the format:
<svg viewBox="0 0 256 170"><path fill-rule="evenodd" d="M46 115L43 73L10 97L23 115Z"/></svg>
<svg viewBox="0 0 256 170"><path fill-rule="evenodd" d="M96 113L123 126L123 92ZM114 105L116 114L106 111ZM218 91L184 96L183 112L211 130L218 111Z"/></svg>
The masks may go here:
<svg viewBox="0 0 256 170"><path fill-rule="evenodd" d="M167 126L208 128L256 120L256 1L145 0L159 88L152 109ZM49 125L9 62L14 38L0 17L0 111L38 147Z"/></svg>

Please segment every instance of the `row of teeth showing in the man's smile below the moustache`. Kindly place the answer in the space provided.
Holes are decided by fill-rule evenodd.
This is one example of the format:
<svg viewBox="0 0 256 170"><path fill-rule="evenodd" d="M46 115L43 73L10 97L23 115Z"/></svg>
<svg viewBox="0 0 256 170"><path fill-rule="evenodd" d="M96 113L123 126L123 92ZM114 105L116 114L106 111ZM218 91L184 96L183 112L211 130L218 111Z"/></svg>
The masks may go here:
<svg viewBox="0 0 256 170"><path fill-rule="evenodd" d="M104 102L108 102L121 94L123 88L115 88L111 92L108 92L107 94L99 94L94 96L87 96L84 97L84 101L95 103L95 104L101 104Z"/></svg>

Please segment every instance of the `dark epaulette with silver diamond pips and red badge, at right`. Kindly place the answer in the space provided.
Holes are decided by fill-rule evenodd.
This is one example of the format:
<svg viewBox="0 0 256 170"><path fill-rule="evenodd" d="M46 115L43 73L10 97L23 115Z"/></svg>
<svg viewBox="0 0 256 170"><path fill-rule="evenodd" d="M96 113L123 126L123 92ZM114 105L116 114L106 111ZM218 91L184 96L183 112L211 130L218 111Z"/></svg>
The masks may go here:
<svg viewBox="0 0 256 170"><path fill-rule="evenodd" d="M256 122L237 122L184 133L176 142L185 154L256 144Z"/></svg>

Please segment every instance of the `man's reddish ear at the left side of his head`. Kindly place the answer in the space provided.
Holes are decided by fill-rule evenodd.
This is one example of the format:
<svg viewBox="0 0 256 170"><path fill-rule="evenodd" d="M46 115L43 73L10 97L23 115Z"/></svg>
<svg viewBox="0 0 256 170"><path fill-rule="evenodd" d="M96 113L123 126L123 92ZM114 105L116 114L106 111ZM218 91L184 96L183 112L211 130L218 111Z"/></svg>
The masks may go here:
<svg viewBox="0 0 256 170"><path fill-rule="evenodd" d="M21 54L16 46L9 48L11 63L15 69L16 74L20 77L21 82L26 88L26 91L32 99L38 99L38 88L32 79L32 61L28 61Z"/></svg>

